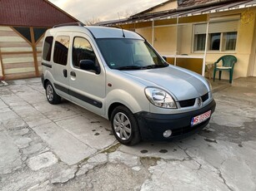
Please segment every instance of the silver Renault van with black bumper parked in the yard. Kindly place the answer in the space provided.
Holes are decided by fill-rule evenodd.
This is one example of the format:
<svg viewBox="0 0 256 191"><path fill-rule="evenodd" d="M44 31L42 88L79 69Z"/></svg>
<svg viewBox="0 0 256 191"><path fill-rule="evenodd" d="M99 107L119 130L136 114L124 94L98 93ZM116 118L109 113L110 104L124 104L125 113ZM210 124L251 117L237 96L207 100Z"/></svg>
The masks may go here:
<svg viewBox="0 0 256 191"><path fill-rule="evenodd" d="M56 26L45 34L42 57L48 102L63 97L103 116L122 144L192 134L215 110L203 76L169 65L135 32Z"/></svg>

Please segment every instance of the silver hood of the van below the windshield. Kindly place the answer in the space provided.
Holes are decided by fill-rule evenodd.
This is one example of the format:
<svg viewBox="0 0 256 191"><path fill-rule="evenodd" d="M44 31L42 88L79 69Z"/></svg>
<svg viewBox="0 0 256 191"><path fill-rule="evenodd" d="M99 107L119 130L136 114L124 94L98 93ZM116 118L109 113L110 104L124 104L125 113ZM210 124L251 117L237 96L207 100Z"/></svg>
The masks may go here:
<svg viewBox="0 0 256 191"><path fill-rule="evenodd" d="M160 87L171 93L176 100L188 100L208 92L202 76L179 67L168 66L158 69L123 71L145 86Z"/></svg>

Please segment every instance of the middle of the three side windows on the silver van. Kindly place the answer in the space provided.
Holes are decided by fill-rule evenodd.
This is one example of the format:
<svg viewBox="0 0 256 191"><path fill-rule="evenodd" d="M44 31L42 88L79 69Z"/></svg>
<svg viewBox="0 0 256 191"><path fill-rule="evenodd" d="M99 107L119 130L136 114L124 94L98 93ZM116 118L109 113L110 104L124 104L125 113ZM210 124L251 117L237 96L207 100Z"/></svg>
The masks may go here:
<svg viewBox="0 0 256 191"><path fill-rule="evenodd" d="M69 37L58 36L55 40L53 61L57 64L67 65Z"/></svg>

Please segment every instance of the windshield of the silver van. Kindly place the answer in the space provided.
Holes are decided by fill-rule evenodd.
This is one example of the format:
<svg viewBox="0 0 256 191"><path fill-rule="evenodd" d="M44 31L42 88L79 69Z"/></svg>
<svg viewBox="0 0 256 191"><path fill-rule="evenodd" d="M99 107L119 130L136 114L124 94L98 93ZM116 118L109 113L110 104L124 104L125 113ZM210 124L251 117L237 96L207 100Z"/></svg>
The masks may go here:
<svg viewBox="0 0 256 191"><path fill-rule="evenodd" d="M148 42L138 39L98 39L98 47L112 69L140 70L165 67L168 64L158 56Z"/></svg>

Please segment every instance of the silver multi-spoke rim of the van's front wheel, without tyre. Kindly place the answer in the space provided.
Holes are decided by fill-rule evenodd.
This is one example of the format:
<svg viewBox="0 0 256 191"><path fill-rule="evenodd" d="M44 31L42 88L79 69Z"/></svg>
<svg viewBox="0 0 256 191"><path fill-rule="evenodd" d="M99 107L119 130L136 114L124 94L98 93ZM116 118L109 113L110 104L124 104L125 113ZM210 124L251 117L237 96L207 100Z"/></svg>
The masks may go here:
<svg viewBox="0 0 256 191"><path fill-rule="evenodd" d="M126 115L118 112L113 118L113 128L121 140L128 140L132 134L131 122Z"/></svg>

